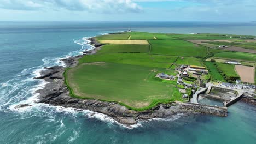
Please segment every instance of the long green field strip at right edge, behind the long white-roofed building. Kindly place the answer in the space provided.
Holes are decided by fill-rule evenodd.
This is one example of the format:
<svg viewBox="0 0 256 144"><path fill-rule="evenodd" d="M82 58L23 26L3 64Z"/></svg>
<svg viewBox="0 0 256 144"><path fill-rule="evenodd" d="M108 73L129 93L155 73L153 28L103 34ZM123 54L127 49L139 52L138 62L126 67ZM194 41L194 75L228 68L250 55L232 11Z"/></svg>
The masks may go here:
<svg viewBox="0 0 256 144"><path fill-rule="evenodd" d="M220 53L215 53L213 57L240 59L245 61L256 61L255 54L243 53L243 52L220 52Z"/></svg>

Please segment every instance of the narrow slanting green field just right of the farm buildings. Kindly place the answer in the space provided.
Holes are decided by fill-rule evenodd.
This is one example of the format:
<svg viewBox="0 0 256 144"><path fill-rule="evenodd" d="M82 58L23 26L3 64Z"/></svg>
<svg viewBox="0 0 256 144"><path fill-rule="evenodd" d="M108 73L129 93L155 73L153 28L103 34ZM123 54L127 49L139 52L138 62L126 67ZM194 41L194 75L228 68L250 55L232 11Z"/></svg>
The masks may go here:
<svg viewBox="0 0 256 144"><path fill-rule="evenodd" d="M209 70L209 73L211 75L212 81L225 81L222 77L222 75L219 74L218 69L215 67L213 62L205 62L207 69Z"/></svg>

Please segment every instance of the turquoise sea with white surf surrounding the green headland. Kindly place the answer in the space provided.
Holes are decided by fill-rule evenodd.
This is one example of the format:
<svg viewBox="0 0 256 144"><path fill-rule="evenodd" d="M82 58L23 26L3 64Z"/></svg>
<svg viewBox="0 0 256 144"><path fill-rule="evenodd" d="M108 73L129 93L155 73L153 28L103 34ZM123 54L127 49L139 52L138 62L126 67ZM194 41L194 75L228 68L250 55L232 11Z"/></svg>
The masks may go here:
<svg viewBox="0 0 256 144"><path fill-rule="evenodd" d="M255 23L0 22L0 143L255 143L256 107L236 103L228 117L177 115L133 129L91 111L34 104L43 67L90 49L86 38L109 32L214 32L256 35ZM201 103L218 105L217 101ZM16 110L18 104L32 104Z"/></svg>

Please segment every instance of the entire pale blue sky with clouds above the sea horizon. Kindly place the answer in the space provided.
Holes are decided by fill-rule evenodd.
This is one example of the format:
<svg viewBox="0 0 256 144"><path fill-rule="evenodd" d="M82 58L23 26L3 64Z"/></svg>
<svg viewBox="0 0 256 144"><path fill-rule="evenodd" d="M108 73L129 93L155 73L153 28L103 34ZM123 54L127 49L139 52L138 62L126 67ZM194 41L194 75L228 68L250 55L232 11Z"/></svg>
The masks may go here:
<svg viewBox="0 0 256 144"><path fill-rule="evenodd" d="M0 0L0 21L256 21L255 0Z"/></svg>

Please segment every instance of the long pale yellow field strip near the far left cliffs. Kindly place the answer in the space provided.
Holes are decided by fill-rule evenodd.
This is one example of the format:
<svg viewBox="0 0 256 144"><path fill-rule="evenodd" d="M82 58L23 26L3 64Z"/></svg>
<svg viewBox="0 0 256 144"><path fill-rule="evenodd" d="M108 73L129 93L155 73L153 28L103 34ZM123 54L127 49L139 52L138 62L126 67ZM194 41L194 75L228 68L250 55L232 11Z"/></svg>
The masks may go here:
<svg viewBox="0 0 256 144"><path fill-rule="evenodd" d="M112 45L148 45L147 40L99 40L102 44Z"/></svg>

